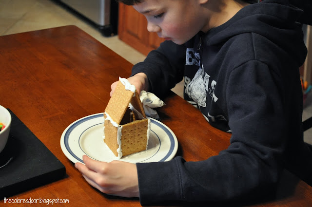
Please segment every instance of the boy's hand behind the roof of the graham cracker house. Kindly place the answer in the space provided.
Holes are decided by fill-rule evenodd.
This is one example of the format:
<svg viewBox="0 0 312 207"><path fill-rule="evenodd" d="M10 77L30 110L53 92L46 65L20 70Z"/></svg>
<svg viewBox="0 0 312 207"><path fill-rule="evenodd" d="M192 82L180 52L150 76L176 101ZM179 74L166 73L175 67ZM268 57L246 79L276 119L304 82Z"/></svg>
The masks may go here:
<svg viewBox="0 0 312 207"><path fill-rule="evenodd" d="M134 76L131 76L127 79L132 85L134 85L137 89L137 93L140 94L142 90L148 91L148 79L147 79L147 75L145 75L144 73L138 73ZM111 85L111 93L110 96L113 95L116 86L117 86L117 82L114 82Z"/></svg>

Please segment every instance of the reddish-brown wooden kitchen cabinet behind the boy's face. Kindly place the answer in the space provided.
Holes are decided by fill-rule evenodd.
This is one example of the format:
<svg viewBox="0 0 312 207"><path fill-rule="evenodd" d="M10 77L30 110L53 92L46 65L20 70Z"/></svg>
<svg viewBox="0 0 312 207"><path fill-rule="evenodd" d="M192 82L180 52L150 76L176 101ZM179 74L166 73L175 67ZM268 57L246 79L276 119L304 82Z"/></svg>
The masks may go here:
<svg viewBox="0 0 312 207"><path fill-rule="evenodd" d="M156 49L164 38L147 31L147 20L132 6L119 3L118 37L140 53L147 55Z"/></svg>

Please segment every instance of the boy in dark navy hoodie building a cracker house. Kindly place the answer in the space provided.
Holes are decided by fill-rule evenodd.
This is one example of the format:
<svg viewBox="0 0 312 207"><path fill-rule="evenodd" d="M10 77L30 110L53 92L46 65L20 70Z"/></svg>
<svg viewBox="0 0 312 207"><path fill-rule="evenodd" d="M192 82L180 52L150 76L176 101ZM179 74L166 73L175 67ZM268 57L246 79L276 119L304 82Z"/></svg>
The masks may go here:
<svg viewBox="0 0 312 207"><path fill-rule="evenodd" d="M263 197L273 194L284 168L312 181L301 124L301 10L287 0L120 1L166 39L128 80L138 92L163 96L184 77L184 98L212 126L231 132L231 145L200 162L176 157L133 165L84 156L85 166L76 167L92 186L146 205Z"/></svg>

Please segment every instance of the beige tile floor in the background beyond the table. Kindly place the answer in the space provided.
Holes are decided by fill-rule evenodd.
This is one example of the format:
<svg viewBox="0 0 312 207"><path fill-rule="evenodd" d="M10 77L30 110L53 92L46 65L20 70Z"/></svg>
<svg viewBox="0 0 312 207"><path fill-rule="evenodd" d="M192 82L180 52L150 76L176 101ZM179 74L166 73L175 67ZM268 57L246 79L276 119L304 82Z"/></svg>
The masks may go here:
<svg viewBox="0 0 312 207"><path fill-rule="evenodd" d="M61 7L52 0L0 0L0 36L64 25L76 25L98 39L118 55L136 64L145 56L120 41L117 36L105 38L88 22ZM183 84L173 89L182 94ZM312 116L312 93L308 97L303 120ZM312 129L304 133L305 141L312 144Z"/></svg>

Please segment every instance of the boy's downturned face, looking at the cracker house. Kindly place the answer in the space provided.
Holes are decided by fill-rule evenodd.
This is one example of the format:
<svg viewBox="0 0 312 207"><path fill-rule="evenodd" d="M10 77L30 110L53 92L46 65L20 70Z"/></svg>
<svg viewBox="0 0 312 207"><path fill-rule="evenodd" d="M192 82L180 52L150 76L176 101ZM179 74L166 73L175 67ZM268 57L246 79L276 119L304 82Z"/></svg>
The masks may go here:
<svg viewBox="0 0 312 207"><path fill-rule="evenodd" d="M183 44L207 24L201 2L203 0L144 0L133 7L146 17L149 32Z"/></svg>

